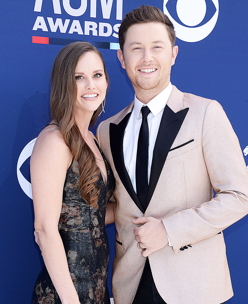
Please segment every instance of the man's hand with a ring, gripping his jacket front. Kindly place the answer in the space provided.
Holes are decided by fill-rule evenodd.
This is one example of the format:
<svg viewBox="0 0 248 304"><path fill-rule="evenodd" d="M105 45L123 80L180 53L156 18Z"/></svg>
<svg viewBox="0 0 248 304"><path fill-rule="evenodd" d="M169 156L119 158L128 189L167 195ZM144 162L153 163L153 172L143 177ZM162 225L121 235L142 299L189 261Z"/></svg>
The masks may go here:
<svg viewBox="0 0 248 304"><path fill-rule="evenodd" d="M143 224L143 226L136 227L133 230L135 239L138 242L138 249L140 249L140 247L143 248L141 250L143 257L148 257L152 252L168 244L166 230L160 219L155 219L152 216L143 216L133 219L132 223L136 225Z"/></svg>

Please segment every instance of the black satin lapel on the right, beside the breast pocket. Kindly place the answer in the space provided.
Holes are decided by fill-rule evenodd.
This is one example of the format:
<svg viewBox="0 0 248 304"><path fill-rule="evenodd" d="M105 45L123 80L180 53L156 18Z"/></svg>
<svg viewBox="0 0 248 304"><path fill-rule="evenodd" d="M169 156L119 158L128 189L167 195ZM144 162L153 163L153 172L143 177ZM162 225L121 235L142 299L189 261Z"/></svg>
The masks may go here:
<svg viewBox="0 0 248 304"><path fill-rule="evenodd" d="M166 157L183 124L188 110L189 108L186 108L175 113L172 109L169 108L168 105L166 105L164 108L153 150L146 206L149 205L164 163L166 161Z"/></svg>

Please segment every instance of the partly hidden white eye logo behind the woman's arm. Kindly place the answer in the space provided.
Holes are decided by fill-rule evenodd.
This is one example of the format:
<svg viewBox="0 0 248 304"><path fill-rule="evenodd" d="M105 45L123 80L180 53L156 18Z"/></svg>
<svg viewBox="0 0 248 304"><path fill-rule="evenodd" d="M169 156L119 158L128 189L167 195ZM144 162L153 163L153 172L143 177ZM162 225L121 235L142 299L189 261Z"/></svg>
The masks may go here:
<svg viewBox="0 0 248 304"><path fill-rule="evenodd" d="M21 152L21 154L20 154L20 156L18 158L18 162L17 162L17 178L18 178L18 182L19 182L22 190L24 191L24 193L26 195L28 195L28 197L30 197L30 199L33 199L31 184L22 175L22 172L20 171L20 168L22 167L22 164L28 159L28 157L31 156L36 139L37 139L37 137L35 139L32 139L23 148L23 150L22 150L22 152Z"/></svg>

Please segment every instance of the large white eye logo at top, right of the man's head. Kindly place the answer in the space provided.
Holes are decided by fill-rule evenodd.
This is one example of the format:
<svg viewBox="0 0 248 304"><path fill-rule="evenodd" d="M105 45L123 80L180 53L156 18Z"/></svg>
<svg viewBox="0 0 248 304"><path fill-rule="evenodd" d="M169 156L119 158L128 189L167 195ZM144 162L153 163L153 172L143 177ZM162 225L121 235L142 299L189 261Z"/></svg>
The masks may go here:
<svg viewBox="0 0 248 304"><path fill-rule="evenodd" d="M219 15L219 1L164 0L163 10L174 25L177 38L197 42L214 29Z"/></svg>

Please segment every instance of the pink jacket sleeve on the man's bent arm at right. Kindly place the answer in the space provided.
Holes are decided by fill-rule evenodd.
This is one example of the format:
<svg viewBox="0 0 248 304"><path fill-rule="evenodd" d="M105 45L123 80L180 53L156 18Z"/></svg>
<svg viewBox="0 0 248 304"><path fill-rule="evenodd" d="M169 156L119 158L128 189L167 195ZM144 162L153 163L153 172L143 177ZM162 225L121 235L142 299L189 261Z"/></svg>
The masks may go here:
<svg viewBox="0 0 248 304"><path fill-rule="evenodd" d="M240 144L221 105L206 107L202 148L215 198L162 219L176 253L212 237L248 213L248 172ZM186 223L186 224L185 224Z"/></svg>

